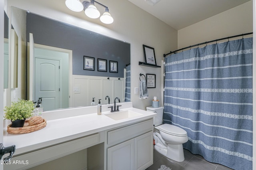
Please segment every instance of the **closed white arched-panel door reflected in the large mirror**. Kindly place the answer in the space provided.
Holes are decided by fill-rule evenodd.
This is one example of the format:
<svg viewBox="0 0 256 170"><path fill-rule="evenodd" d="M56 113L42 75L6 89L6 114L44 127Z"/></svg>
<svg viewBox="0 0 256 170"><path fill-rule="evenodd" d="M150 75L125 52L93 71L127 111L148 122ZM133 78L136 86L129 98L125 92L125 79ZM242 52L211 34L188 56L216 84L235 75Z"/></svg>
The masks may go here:
<svg viewBox="0 0 256 170"><path fill-rule="evenodd" d="M60 61L35 58L35 101L42 97L44 111L60 108Z"/></svg>

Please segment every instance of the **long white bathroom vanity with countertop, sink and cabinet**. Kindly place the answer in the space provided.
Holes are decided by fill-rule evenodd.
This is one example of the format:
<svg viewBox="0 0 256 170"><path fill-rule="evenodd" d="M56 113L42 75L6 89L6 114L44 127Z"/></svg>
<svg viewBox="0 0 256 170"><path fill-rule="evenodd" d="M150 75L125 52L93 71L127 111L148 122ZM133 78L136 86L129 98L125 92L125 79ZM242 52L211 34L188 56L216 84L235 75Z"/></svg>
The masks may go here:
<svg viewBox="0 0 256 170"><path fill-rule="evenodd" d="M87 170L144 170L153 164L153 117L156 113L136 109L132 102L76 107L43 113L46 127L27 134L8 134L4 143L16 145L4 170L24 170L87 149ZM4 156L5 157L5 156ZM17 164L16 164L17 163Z"/></svg>

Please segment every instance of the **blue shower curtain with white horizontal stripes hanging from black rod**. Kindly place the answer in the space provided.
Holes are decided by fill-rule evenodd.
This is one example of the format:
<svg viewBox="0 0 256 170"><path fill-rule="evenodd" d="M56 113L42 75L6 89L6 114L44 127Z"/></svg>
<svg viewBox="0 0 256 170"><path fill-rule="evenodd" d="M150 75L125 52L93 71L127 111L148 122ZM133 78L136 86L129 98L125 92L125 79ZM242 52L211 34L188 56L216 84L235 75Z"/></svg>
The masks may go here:
<svg viewBox="0 0 256 170"><path fill-rule="evenodd" d="M165 58L164 123L188 133L185 149L252 169L252 38Z"/></svg>

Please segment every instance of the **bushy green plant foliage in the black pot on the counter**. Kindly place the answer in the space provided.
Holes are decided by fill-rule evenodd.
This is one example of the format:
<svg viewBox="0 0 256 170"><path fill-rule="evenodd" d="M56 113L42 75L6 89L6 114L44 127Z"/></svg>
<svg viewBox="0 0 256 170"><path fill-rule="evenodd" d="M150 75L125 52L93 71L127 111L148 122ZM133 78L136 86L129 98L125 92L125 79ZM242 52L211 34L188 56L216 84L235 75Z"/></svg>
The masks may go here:
<svg viewBox="0 0 256 170"><path fill-rule="evenodd" d="M16 102L12 102L12 105L6 106L4 108L4 111L5 111L4 118L9 119L11 121L15 121L17 119L24 120L32 115L33 110L34 110L33 101L19 99Z"/></svg>

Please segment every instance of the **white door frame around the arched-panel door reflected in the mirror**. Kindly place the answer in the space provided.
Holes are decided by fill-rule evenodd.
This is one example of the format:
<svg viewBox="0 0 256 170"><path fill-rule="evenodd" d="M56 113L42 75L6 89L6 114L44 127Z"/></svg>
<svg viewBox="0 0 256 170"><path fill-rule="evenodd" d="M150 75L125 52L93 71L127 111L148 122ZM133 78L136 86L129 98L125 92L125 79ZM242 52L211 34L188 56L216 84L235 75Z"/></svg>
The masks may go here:
<svg viewBox="0 0 256 170"><path fill-rule="evenodd" d="M70 104L72 103L71 102L71 99L72 99L71 95L72 95L72 76L73 76L73 64L72 64L72 61L73 61L73 59L72 59L73 58L73 54L72 53L73 52L72 52L72 50L64 49L64 48L58 48L58 47L52 47L52 46L42 45L42 44L37 44L37 43L34 43L34 48L46 49L46 50L51 50L51 51L58 51L58 52L68 53L68 60L69 60L68 61L68 63L69 63L69 76L68 76L69 99L68 99L68 106L70 107ZM35 56L34 56L34 58L35 58ZM47 59L49 59L49 58L47 58ZM33 63L33 64L35 64L35 63ZM35 88L33 86L33 98L34 98L34 90L35 90ZM62 101L62 99L60 99L60 101Z"/></svg>

